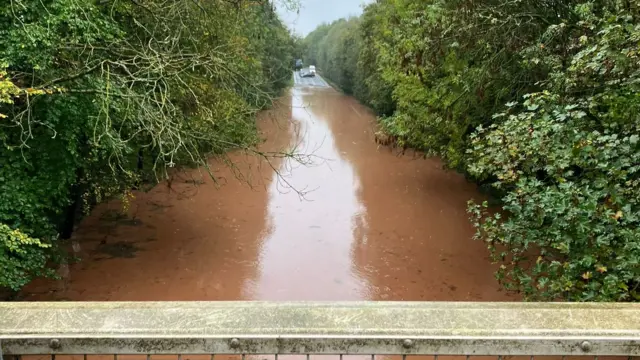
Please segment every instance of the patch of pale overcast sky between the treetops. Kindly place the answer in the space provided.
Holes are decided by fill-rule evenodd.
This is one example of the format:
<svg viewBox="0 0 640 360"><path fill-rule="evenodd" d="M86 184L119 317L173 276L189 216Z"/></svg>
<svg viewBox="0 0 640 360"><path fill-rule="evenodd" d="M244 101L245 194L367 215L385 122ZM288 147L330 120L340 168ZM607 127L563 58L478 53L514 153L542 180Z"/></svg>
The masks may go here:
<svg viewBox="0 0 640 360"><path fill-rule="evenodd" d="M360 15L362 4L372 0L300 0L300 14L279 9L280 17L296 34L306 36L323 22Z"/></svg>

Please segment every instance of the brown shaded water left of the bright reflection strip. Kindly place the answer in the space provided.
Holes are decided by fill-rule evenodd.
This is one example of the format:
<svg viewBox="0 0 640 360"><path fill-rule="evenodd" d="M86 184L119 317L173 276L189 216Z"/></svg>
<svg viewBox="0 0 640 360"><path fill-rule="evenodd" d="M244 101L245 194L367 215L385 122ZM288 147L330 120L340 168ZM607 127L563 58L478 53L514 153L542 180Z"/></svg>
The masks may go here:
<svg viewBox="0 0 640 360"><path fill-rule="evenodd" d="M263 151L288 146L291 106L285 97L260 116ZM242 152L235 168L212 162L221 184L205 172L179 174L171 189L160 184L136 193L129 220L114 219L122 206L99 206L74 235L82 261L68 265L63 281L38 280L24 300L164 301L252 299L265 231L267 188L274 179L263 158ZM242 175L242 179L237 176ZM195 179L195 182L187 181ZM135 224L130 219L135 219ZM135 225L135 226L132 226Z"/></svg>

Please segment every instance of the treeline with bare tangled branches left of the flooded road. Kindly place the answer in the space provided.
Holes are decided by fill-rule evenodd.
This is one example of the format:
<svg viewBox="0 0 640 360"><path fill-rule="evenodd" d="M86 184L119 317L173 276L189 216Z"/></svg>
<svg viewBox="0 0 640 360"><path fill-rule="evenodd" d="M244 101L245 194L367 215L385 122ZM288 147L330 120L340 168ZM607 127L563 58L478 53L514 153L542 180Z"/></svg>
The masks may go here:
<svg viewBox="0 0 640 360"><path fill-rule="evenodd" d="M254 144L292 55L269 0L4 1L0 288L51 274L95 204Z"/></svg>

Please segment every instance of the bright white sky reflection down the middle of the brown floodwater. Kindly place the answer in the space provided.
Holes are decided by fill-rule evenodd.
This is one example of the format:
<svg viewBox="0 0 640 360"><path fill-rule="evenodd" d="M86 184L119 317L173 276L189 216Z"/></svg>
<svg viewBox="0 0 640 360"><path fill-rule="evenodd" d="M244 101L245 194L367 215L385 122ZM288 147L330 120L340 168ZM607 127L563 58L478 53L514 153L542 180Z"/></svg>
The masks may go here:
<svg viewBox="0 0 640 360"><path fill-rule="evenodd" d="M269 187L271 231L263 240L255 291L261 300L368 297L351 261L354 235L364 238L366 226L357 197L360 179L312 101L304 90L292 90L294 147L312 156L304 165L283 161L281 178Z"/></svg>

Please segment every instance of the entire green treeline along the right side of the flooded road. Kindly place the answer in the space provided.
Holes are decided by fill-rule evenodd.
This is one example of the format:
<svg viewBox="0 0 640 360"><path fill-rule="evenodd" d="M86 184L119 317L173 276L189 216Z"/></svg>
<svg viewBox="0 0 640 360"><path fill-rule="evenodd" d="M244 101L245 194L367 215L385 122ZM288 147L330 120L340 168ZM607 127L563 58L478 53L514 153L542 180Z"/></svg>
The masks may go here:
<svg viewBox="0 0 640 360"><path fill-rule="evenodd" d="M640 2L378 0L306 61L501 209L469 205L533 300L640 300ZM481 256L480 254L478 256Z"/></svg>

